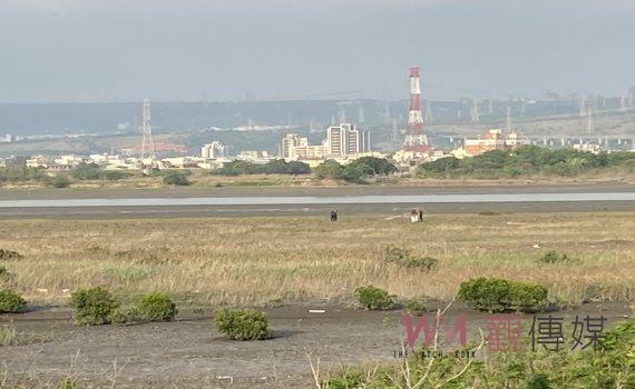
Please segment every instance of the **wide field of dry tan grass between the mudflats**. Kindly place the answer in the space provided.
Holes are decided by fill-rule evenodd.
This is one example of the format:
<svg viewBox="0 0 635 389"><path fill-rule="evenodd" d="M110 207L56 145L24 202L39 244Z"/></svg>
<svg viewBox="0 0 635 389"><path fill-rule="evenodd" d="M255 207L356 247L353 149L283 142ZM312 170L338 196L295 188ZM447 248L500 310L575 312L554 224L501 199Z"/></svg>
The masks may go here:
<svg viewBox="0 0 635 389"><path fill-rule="evenodd" d="M635 280L635 213L441 215L424 223L355 216L7 220L0 266L35 303L63 303L78 288L104 286L124 299L167 291L182 303L274 305L351 301L372 283L400 297L449 300L472 277L540 282L550 299L629 300ZM431 272L383 258L389 245L431 256ZM548 250L569 263L540 263ZM589 287L594 286L594 287Z"/></svg>

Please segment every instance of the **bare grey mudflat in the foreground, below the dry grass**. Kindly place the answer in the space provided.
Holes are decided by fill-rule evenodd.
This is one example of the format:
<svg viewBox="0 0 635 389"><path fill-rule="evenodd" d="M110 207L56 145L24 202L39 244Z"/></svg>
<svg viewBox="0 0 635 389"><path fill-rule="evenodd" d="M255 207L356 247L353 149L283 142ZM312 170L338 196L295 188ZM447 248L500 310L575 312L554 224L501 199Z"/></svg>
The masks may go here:
<svg viewBox="0 0 635 389"><path fill-rule="evenodd" d="M82 388L113 383L116 388L307 388L312 385L307 355L314 363L319 358L325 372L393 362L401 349L404 327L399 310L371 312L322 303L264 310L274 330L274 338L265 341L225 340L214 328L211 309L183 309L174 322L123 327L76 326L68 308L4 315L1 325L13 321L19 331L43 335L46 341L0 347L0 369L7 370L8 387L20 382L58 387L60 379L74 377ZM468 313L470 333L477 327L486 329L488 315L460 303L451 307L449 320L460 312ZM631 315L631 309L628 303L603 302L538 316L547 315L565 321L576 315L604 315L609 327ZM531 318L521 316L525 332Z"/></svg>

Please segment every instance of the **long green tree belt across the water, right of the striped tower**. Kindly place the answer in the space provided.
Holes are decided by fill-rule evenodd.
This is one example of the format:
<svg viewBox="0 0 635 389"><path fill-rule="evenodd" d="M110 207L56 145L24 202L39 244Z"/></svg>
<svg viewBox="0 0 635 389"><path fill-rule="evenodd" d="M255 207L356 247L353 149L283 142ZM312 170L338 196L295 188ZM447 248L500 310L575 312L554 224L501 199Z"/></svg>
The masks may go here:
<svg viewBox="0 0 635 389"><path fill-rule="evenodd" d="M573 177L602 169L635 171L635 152L600 152L572 149L549 150L537 146L515 151L494 150L473 158L441 158L422 163L417 174L423 178L516 178L534 174Z"/></svg>

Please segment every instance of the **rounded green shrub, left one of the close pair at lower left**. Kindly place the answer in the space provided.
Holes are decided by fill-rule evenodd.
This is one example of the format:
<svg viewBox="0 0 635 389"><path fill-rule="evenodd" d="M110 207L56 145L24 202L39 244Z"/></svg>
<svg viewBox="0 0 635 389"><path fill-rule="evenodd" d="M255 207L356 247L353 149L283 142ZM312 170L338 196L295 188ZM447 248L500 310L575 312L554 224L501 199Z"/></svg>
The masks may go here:
<svg viewBox="0 0 635 389"><path fill-rule="evenodd" d="M110 323L110 315L119 308L110 292L104 288L78 290L71 295L75 321L82 326Z"/></svg>

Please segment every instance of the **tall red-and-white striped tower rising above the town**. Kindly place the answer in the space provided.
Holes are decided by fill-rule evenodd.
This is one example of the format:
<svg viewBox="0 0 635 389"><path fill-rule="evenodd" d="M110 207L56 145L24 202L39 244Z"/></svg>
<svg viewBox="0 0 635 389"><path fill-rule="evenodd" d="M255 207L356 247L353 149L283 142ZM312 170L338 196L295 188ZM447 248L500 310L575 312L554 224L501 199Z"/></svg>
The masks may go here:
<svg viewBox="0 0 635 389"><path fill-rule="evenodd" d="M421 113L421 68L410 68L410 110L406 127L404 150L424 152L428 151L428 137L423 132L423 114Z"/></svg>

